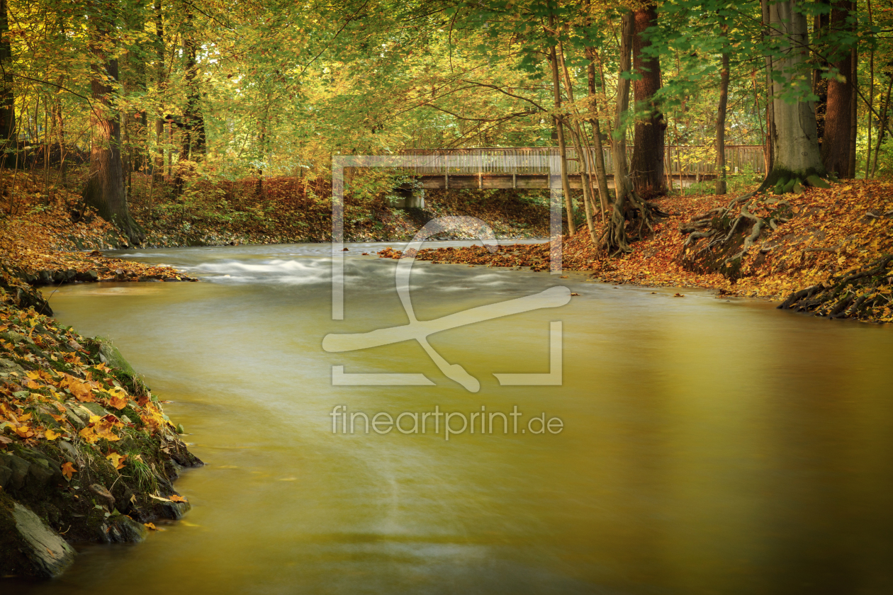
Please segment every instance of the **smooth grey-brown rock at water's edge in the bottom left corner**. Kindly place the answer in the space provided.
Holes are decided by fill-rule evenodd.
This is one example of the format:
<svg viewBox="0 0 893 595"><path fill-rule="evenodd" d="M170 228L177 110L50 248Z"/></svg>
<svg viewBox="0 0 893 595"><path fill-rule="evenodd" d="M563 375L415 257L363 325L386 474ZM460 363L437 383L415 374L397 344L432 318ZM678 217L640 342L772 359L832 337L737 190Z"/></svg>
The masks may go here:
<svg viewBox="0 0 893 595"><path fill-rule="evenodd" d="M39 516L0 494L0 572L53 578L74 561L75 551Z"/></svg>

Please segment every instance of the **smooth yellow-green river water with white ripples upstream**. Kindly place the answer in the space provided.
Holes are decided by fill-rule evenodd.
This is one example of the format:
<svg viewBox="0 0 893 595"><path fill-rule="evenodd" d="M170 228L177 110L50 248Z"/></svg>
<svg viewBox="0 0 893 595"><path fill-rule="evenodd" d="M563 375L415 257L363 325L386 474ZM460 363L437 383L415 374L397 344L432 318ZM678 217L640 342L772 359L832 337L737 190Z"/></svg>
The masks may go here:
<svg viewBox="0 0 893 595"><path fill-rule="evenodd" d="M322 350L329 333L407 322L396 261L349 245L338 321L324 244L133 252L204 282L53 294L63 323L112 338L173 401L207 466L177 483L185 520L139 545L83 548L61 579L16 592L893 592L893 328L417 263L420 319L553 285L580 293L431 335L480 380L471 393L415 341ZM554 320L563 384L500 386L494 373L550 371ZM435 385L333 386L333 366ZM338 405L522 417L506 417L507 434L502 417L492 433L475 417L474 434L447 441L440 417L425 434L365 434L362 417L343 434L335 417L333 433ZM543 413L560 432L536 433Z"/></svg>

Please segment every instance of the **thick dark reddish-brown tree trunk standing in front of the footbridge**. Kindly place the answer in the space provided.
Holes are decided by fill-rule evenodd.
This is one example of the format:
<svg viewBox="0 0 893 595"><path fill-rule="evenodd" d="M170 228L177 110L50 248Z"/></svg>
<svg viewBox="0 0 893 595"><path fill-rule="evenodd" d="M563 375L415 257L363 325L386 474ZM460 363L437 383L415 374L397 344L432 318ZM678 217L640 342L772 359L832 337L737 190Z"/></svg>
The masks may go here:
<svg viewBox="0 0 893 595"><path fill-rule="evenodd" d="M634 13L635 35L632 54L635 71L641 76L633 83L636 112L647 111L646 118L637 118L633 136L630 175L636 192L645 198L666 192L663 185L663 136L666 122L655 105L654 95L661 88L661 63L656 56L645 54L651 41L647 29L657 24L657 7L648 4Z"/></svg>

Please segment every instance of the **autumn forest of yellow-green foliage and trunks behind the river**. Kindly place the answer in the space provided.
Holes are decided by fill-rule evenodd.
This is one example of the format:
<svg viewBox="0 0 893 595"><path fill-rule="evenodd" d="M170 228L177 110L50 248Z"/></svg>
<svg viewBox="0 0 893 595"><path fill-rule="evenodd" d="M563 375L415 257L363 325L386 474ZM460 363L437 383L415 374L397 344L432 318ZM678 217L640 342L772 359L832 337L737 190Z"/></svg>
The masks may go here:
<svg viewBox="0 0 893 595"><path fill-rule="evenodd" d="M823 178L889 175L891 21L870 0L4 0L3 210L92 209L129 244L196 225L325 239L332 154L629 144L629 204L597 162L579 197L565 193L571 235L588 224L595 241L593 220L614 211L602 240L628 250L623 227L661 214L647 201L667 192L665 145L716 159L718 194L729 177L761 181L723 169L724 145L764 145L767 171L793 168L773 154L786 134L773 103L815 118ZM405 181L348 176L367 237L383 239Z"/></svg>

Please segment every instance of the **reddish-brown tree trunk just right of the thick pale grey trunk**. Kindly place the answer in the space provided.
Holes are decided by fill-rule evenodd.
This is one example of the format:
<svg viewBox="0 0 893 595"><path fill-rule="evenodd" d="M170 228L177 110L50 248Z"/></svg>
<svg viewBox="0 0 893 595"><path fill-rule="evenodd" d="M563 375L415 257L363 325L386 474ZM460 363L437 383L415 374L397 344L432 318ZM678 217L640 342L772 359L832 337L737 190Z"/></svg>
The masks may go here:
<svg viewBox="0 0 893 595"><path fill-rule="evenodd" d="M830 31L847 29L849 0L832 4ZM833 37L831 37L833 39ZM849 141L852 124L853 58L850 47L828 47L833 56L831 66L839 71L839 77L828 79L828 103L825 105L825 124L822 136L822 165L839 178L849 176ZM841 80L842 79L842 80Z"/></svg>

